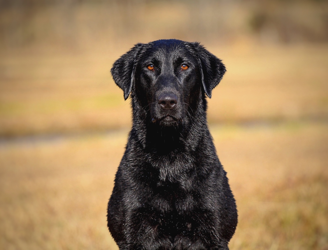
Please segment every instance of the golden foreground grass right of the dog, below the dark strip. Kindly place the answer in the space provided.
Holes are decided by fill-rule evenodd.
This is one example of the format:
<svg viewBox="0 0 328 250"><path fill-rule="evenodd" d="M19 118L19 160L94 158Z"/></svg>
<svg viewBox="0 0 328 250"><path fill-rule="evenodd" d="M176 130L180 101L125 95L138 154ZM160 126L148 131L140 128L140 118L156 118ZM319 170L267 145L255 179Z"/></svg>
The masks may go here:
<svg viewBox="0 0 328 250"><path fill-rule="evenodd" d="M326 249L326 125L214 132L236 196L231 249Z"/></svg>

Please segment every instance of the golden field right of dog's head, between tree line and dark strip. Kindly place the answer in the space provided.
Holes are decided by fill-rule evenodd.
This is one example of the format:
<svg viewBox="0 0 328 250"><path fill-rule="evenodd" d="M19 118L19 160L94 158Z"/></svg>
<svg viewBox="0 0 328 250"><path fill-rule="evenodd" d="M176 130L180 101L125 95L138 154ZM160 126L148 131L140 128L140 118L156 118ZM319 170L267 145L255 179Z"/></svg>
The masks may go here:
<svg viewBox="0 0 328 250"><path fill-rule="evenodd" d="M327 117L328 47L210 49L228 69L210 100L210 122Z"/></svg>

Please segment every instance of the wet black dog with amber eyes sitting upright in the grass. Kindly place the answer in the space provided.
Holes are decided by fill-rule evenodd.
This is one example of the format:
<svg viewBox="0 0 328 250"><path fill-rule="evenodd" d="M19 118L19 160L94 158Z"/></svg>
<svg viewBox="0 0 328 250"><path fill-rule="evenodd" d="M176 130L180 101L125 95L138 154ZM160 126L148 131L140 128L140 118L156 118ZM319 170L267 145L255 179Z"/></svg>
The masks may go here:
<svg viewBox="0 0 328 250"><path fill-rule="evenodd" d="M225 67L199 43L137 44L111 70L133 126L108 203L120 249L229 249L235 199L206 121Z"/></svg>

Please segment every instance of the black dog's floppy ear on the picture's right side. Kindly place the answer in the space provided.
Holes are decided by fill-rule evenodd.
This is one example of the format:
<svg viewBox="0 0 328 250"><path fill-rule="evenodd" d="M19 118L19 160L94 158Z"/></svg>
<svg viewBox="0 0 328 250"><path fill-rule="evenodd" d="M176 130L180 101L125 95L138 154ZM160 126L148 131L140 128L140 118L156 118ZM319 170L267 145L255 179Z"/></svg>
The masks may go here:
<svg viewBox="0 0 328 250"><path fill-rule="evenodd" d="M206 95L211 98L212 90L219 84L226 68L219 58L210 53L199 43L193 43L200 67L202 86Z"/></svg>

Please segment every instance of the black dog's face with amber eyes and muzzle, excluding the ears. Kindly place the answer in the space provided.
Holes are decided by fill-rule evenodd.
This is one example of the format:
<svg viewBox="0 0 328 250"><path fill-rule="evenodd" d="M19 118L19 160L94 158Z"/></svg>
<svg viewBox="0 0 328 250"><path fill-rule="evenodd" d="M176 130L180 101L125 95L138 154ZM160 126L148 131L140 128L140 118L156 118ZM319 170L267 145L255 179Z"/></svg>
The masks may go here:
<svg viewBox="0 0 328 250"><path fill-rule="evenodd" d="M181 44L155 42L146 50L136 70L135 91L142 105L149 106L153 123L171 126L183 122L188 105L195 103L190 96L199 96L201 90L197 65Z"/></svg>

